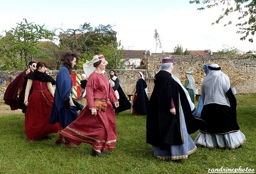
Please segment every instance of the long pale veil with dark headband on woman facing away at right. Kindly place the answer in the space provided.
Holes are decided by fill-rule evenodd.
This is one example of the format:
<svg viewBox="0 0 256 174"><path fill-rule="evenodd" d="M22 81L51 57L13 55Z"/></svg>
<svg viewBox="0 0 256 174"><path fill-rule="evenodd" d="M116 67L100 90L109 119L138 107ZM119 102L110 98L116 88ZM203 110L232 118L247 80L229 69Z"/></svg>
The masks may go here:
<svg viewBox="0 0 256 174"><path fill-rule="evenodd" d="M225 73L220 71L217 64L208 66L209 73L202 81L201 97L205 104L217 103L230 106L226 92L230 88L230 81Z"/></svg>

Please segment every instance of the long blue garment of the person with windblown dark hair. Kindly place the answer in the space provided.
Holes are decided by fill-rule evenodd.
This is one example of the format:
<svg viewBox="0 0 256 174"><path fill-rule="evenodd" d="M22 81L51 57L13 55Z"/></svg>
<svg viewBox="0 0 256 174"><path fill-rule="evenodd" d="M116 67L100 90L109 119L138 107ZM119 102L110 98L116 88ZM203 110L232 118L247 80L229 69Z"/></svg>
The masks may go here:
<svg viewBox="0 0 256 174"><path fill-rule="evenodd" d="M64 101L66 101L72 90L72 79L69 74L69 70L64 65L58 71L56 77L56 89L54 94L54 104L52 105L52 113L50 123L60 122L61 127L65 128L71 122L73 122L78 113L73 107L65 107Z"/></svg>

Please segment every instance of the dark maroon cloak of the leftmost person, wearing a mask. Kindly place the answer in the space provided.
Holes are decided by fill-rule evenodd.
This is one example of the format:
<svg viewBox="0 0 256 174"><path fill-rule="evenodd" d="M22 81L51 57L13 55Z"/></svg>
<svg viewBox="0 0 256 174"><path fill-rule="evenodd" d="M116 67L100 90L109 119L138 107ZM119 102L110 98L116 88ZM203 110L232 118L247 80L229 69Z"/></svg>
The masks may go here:
<svg viewBox="0 0 256 174"><path fill-rule="evenodd" d="M11 107L11 110L22 109L25 113L26 106L24 104L25 88L27 85L27 79L24 78L26 71L22 71L17 77L11 82L4 93L4 103ZM33 71L30 71L32 74Z"/></svg>

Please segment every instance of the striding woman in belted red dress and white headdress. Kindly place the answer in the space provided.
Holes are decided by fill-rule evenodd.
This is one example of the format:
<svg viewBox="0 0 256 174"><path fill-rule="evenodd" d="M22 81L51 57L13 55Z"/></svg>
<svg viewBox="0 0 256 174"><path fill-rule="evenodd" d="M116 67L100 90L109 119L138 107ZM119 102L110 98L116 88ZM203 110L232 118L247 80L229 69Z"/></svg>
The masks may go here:
<svg viewBox="0 0 256 174"><path fill-rule="evenodd" d="M75 148L81 142L88 143L93 146L94 156L103 157L106 155L105 150L113 150L116 146L116 116L111 103L118 107L119 102L104 74L107 65L104 56L93 56L93 60L85 64L88 69L91 65L95 67L95 71L90 74L86 84L87 106L60 134L72 142L64 144L67 148Z"/></svg>

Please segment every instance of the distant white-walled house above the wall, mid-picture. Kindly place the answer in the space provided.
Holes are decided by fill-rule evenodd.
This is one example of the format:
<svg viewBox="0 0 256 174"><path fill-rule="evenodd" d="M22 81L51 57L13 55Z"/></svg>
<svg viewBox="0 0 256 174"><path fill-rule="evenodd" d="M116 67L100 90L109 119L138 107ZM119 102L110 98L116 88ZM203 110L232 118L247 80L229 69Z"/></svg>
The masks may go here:
<svg viewBox="0 0 256 174"><path fill-rule="evenodd" d="M140 65L145 64L145 55L149 54L149 51L145 50L123 50L123 59L125 59L125 65L127 69L135 69Z"/></svg>

